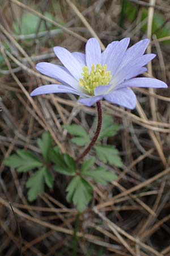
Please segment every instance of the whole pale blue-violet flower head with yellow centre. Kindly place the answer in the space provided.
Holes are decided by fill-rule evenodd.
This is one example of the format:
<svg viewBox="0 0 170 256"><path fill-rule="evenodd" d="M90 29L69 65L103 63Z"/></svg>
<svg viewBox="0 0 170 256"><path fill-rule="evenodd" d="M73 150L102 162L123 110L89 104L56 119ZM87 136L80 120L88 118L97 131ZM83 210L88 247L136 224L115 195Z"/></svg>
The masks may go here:
<svg viewBox="0 0 170 256"><path fill-rule="evenodd" d="M129 38L114 41L102 53L95 38L87 41L86 54L54 47L64 67L42 62L36 65L36 69L61 84L40 86L33 90L31 96L73 93L79 95L81 99L78 102L86 106L104 98L113 104L134 109L136 97L130 87L167 88L167 84L158 79L134 78L147 71L144 66L154 59L155 54L144 55L148 39L128 48L129 41Z"/></svg>

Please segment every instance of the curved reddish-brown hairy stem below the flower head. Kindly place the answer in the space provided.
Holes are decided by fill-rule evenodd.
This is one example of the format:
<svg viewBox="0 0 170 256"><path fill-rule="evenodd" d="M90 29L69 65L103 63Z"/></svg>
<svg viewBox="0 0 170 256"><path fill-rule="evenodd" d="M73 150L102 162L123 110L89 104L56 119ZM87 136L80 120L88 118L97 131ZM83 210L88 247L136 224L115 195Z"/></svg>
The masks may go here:
<svg viewBox="0 0 170 256"><path fill-rule="evenodd" d="M98 114L98 123L97 123L97 129L96 133L94 135L94 138L92 138L91 143L88 145L88 147L83 151L83 153L76 159L76 162L79 162L88 154L88 152L91 150L91 148L94 146L95 142L97 141L97 138L99 137L101 125L102 125L102 110L101 110L101 104L100 101L96 102L97 105L97 114Z"/></svg>

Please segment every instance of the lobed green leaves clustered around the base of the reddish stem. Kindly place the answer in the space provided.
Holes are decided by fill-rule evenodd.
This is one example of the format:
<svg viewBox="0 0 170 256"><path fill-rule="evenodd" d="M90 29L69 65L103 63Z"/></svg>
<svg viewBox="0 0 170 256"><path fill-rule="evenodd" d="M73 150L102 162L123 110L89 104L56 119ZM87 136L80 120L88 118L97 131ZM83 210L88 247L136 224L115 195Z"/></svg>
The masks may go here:
<svg viewBox="0 0 170 256"><path fill-rule="evenodd" d="M118 126L114 125L111 117L105 115L103 123L100 139L117 133ZM90 142L90 136L82 126L73 124L64 127L70 134L75 135L71 142L78 146L86 146ZM45 185L53 188L54 172L58 172L71 177L66 188L66 199L68 202L73 201L78 210L82 211L92 199L91 182L106 185L107 182L112 182L117 178L113 171L97 166L95 156L103 163L114 164L117 167L122 165L118 150L114 146L103 145L99 142L94 147L95 156L84 160L78 166L69 154L62 154L57 146L53 146L52 137L48 132L43 133L42 137L37 139L37 144L41 152L38 156L31 151L17 150L16 154L4 160L6 166L15 168L17 172L29 172L29 174L33 172L26 182L29 201L36 200L38 195L44 192Z"/></svg>

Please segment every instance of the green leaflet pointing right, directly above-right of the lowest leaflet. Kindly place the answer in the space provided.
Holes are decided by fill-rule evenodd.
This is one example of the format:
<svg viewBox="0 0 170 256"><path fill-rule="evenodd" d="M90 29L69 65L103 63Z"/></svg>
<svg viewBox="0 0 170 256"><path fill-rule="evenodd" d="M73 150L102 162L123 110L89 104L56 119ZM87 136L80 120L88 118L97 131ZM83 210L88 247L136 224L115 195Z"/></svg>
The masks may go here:
<svg viewBox="0 0 170 256"><path fill-rule="evenodd" d="M117 179L117 175L113 172L107 171L105 167L99 167L95 170L89 170L87 172L83 172L83 175L91 177L94 179L97 183L106 185L107 182L112 182L113 180Z"/></svg>

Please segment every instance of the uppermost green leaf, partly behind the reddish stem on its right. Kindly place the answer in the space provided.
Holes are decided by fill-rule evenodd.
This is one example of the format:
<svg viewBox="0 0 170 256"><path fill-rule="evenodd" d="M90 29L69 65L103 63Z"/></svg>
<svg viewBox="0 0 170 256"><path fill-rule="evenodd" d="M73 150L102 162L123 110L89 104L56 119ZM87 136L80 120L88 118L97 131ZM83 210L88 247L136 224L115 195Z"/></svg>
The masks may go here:
<svg viewBox="0 0 170 256"><path fill-rule="evenodd" d="M97 126L97 117L95 118L95 127ZM113 122L113 118L110 115L103 115L103 121L101 126L101 131L99 134L99 138L103 139L105 137L113 137L117 134L117 131L120 127Z"/></svg>

